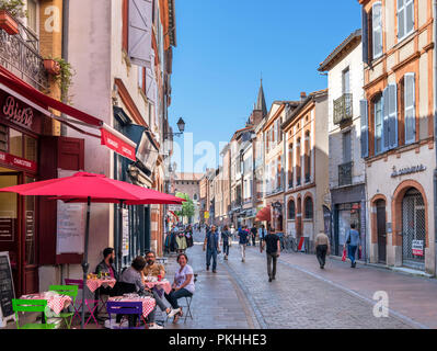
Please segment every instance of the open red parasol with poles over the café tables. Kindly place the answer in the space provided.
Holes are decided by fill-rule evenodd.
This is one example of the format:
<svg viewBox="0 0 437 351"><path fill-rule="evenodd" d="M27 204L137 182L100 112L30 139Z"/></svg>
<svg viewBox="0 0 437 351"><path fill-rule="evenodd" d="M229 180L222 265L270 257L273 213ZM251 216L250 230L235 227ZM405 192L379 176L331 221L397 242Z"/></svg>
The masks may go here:
<svg viewBox="0 0 437 351"><path fill-rule="evenodd" d="M142 205L142 204L182 204L184 199L160 193L154 190L141 188L126 182L106 178L103 174L78 172L72 177L57 178L0 189L0 192L12 192L20 195L42 195L55 196L56 200L65 202L85 202L87 208L87 227L84 238L83 252L83 282L87 281L89 269L88 263L88 241L90 233L90 207L91 202L96 203L119 203L119 218L122 223L122 205ZM119 237L123 236L123 228L119 226ZM119 241L122 242L122 241ZM118 250L118 271L120 270L120 253ZM85 301L84 288L82 292L82 301ZM82 304L82 322L84 324L84 304Z"/></svg>

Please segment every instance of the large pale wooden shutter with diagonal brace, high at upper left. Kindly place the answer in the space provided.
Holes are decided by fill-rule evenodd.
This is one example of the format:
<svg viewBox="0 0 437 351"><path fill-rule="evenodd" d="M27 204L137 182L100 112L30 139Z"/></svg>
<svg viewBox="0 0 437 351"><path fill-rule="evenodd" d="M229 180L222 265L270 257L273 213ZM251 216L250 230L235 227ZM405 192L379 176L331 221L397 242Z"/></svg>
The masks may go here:
<svg viewBox="0 0 437 351"><path fill-rule="evenodd" d="M152 1L129 0L128 56L134 65L151 68Z"/></svg>

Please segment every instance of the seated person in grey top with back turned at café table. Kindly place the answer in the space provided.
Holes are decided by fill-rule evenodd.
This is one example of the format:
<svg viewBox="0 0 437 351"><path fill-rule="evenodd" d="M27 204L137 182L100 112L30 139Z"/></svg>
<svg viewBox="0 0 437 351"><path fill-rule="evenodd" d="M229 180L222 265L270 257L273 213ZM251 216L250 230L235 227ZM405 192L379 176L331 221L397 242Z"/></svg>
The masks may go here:
<svg viewBox="0 0 437 351"><path fill-rule="evenodd" d="M149 295L153 297L153 295L149 292L146 291L145 286L145 276L142 273L142 270L146 267L146 260L143 257L138 256L137 258L134 259L131 265L126 269L119 279L122 283L128 283L135 285L135 288L138 293L138 295ZM163 327L157 325L154 322L154 312L157 309L157 306L154 306L153 310L149 314L149 329L163 329ZM119 320L117 320L119 322Z"/></svg>

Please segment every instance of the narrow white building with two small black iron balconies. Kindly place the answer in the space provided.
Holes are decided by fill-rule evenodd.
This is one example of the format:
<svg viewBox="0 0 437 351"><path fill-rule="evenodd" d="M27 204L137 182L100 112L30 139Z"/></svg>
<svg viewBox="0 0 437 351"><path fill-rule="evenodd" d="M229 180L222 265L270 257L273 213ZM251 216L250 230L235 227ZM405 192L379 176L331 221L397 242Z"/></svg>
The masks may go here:
<svg viewBox="0 0 437 351"><path fill-rule="evenodd" d="M364 98L361 30L346 37L320 64L327 72L327 133L330 143L330 207L324 207L324 231L331 253L343 254L350 224L366 242L366 170L361 158L360 101ZM365 143L366 140L363 139ZM331 220L332 215L332 220ZM363 245L363 258L366 245Z"/></svg>

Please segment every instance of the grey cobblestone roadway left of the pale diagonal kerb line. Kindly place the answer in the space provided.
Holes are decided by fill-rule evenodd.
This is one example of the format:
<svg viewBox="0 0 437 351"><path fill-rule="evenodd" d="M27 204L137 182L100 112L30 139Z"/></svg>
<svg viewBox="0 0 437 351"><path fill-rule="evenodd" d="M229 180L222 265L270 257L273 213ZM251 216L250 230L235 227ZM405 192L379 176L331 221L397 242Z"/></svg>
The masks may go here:
<svg viewBox="0 0 437 351"><path fill-rule="evenodd" d="M196 234L196 241L204 235ZM191 263L199 274L193 299L195 320L166 328L275 328L275 329L404 329L416 326L396 316L373 316L376 302L368 302L327 281L278 263L276 281L268 282L265 254L248 247L241 262L237 242L229 260L219 257L218 273L205 269L205 253L198 244L187 250ZM284 253L286 256L288 253ZM173 259L174 261L174 259ZM169 278L174 274L169 264ZM204 292L203 290L206 290ZM249 309L249 310L248 310Z"/></svg>

